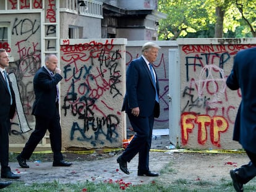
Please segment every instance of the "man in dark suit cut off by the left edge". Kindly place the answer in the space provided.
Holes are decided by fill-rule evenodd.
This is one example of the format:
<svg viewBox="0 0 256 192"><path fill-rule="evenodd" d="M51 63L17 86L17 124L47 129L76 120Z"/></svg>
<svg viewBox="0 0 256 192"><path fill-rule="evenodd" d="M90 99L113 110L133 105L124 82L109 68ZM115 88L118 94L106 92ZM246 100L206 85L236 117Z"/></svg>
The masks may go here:
<svg viewBox="0 0 256 192"><path fill-rule="evenodd" d="M12 83L6 73L9 66L9 57L5 49L0 49L0 162L1 178L19 178L11 172L9 164L9 131L10 119L14 117L16 110L15 95ZM0 182L0 188L10 185L11 182Z"/></svg>

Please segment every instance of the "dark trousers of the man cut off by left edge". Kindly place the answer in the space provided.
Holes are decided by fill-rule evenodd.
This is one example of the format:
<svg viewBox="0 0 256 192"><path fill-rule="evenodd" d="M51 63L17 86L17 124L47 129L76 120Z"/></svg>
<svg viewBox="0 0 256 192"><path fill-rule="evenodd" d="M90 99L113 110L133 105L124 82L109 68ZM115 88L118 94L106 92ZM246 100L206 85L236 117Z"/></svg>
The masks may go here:
<svg viewBox="0 0 256 192"><path fill-rule="evenodd" d="M0 162L1 172L10 170L9 164L9 130L11 127L10 119L7 117L0 121Z"/></svg>

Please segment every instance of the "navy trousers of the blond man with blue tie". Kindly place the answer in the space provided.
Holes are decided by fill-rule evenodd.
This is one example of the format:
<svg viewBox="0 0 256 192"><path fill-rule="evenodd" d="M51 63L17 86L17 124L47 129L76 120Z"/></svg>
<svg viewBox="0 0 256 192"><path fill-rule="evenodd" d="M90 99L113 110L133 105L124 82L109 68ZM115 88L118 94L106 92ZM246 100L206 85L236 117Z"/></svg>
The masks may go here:
<svg viewBox="0 0 256 192"><path fill-rule="evenodd" d="M128 113L130 124L135 131L135 136L122 153L122 158L130 162L139 152L139 170L149 170L149 152L151 148L154 117L135 117Z"/></svg>

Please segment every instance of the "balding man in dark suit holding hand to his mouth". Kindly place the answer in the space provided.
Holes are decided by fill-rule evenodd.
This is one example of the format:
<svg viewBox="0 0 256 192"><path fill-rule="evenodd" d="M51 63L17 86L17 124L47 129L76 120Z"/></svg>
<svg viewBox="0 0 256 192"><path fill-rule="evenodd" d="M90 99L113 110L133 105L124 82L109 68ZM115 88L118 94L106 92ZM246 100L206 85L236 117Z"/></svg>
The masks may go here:
<svg viewBox="0 0 256 192"><path fill-rule="evenodd" d="M55 74L54 74L54 73ZM46 55L45 66L41 67L33 80L35 102L32 114L35 115L35 130L30 135L22 152L17 156L20 167L28 168L26 160L30 159L37 144L49 131L51 149L53 150L53 166L70 166L61 154L61 125L59 117L58 83L61 81L61 70L58 68L58 57Z"/></svg>

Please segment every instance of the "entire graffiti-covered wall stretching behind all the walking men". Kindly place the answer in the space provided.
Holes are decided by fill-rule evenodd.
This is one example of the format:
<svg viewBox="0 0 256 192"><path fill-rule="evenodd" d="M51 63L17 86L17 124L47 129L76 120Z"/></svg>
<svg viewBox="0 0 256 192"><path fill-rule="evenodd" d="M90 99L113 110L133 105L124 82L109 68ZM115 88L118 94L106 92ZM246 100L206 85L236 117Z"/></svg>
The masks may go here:
<svg viewBox="0 0 256 192"><path fill-rule="evenodd" d="M9 23L10 75L17 101L10 146L23 147L35 127L32 112L33 75L41 67L41 14L1 14ZM47 29L47 28L46 28ZM47 30L46 30L47 31ZM140 57L146 41L125 39L62 39L59 54L63 148L120 147L130 127L121 112L126 68ZM240 91L226 87L234 56L256 45L255 39L180 39L155 41L161 49L154 67L160 80L161 114L154 128L177 129L179 144L194 149L240 149L232 140ZM48 44L48 43L46 43ZM0 44L1 45L1 44ZM3 45L2 45L3 46ZM49 48L49 50L48 50ZM45 51L51 51L45 46ZM178 48L179 125L169 127L169 49ZM127 122L126 122L127 120ZM47 136L46 136L47 138ZM49 138L45 141L49 144ZM45 147L45 143L39 145ZM48 145L49 146L49 145Z"/></svg>

